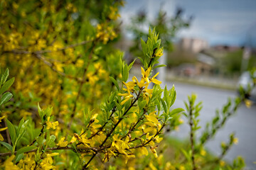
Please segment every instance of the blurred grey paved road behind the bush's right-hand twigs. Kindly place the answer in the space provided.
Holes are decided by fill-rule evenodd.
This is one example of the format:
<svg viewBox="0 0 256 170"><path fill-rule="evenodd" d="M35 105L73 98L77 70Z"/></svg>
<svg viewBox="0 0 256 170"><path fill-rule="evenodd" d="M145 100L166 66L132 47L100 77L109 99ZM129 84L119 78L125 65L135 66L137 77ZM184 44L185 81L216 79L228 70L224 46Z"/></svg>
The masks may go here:
<svg viewBox="0 0 256 170"><path fill-rule="evenodd" d="M203 86L195 86L191 84L181 83L167 83L171 88L172 84L175 85L177 98L174 107L185 108L183 101L191 93L198 94L198 101L203 101L203 109L201 111L201 125L204 127L206 122L211 120L215 115L216 108L222 108L223 103L227 102L228 97L235 97L235 91L227 91L222 89L213 89ZM181 125L179 132L174 132L172 135L185 138L188 137L188 125ZM231 132L235 132L235 136L239 138L238 145L234 145L225 159L228 161L233 160L238 155L245 158L247 169L256 169L256 106L248 109L242 105L238 113L231 117L223 129L221 129L210 140L206 147L214 154L220 154L220 142L228 142L228 136ZM200 135L200 132L198 132Z"/></svg>

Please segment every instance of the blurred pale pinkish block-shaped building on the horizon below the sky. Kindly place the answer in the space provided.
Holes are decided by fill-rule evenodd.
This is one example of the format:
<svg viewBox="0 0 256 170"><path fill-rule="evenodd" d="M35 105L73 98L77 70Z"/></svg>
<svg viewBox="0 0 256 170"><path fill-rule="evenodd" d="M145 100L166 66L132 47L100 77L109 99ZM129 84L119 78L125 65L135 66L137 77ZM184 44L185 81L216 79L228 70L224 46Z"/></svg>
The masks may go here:
<svg viewBox="0 0 256 170"><path fill-rule="evenodd" d="M206 40L201 40L197 38L181 38L179 47L180 47L180 50L198 53L201 50L207 49L209 45Z"/></svg>

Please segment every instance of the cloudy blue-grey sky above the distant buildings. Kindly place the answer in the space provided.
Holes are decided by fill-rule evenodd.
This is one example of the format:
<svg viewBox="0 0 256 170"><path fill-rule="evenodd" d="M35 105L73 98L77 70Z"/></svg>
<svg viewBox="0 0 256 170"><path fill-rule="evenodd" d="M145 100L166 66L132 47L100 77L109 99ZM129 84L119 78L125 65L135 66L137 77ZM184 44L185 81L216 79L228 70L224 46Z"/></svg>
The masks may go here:
<svg viewBox="0 0 256 170"><path fill-rule="evenodd" d="M256 0L127 0L122 20L129 24L139 10L154 18L161 5L168 16L176 7L183 8L185 16L194 16L191 27L178 37L201 38L210 45L244 45L248 34L256 38Z"/></svg>

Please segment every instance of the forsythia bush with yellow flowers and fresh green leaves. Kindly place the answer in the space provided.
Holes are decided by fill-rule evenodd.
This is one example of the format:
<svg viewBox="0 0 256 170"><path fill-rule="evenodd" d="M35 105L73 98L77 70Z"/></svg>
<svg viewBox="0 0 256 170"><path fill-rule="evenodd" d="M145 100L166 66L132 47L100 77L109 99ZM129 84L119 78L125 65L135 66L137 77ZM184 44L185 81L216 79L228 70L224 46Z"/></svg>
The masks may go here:
<svg viewBox="0 0 256 170"><path fill-rule="evenodd" d="M203 146L235 113L248 91L241 89L240 98L230 100L197 141L194 134L202 106L196 104L196 95L188 98L186 111L171 108L174 86L161 89L159 73L153 73L163 55L155 29L149 29L146 42L141 40L142 76L129 77L134 62L126 64L122 52L112 45L119 36L118 8L123 4L0 1L0 61L5 68L0 74L1 169L244 166L241 158L232 165L222 160L238 142L234 135L222 145L220 157L210 161ZM8 79L9 74L15 80ZM191 127L190 145L167 159L168 146L159 142L164 131L181 125L181 113Z"/></svg>

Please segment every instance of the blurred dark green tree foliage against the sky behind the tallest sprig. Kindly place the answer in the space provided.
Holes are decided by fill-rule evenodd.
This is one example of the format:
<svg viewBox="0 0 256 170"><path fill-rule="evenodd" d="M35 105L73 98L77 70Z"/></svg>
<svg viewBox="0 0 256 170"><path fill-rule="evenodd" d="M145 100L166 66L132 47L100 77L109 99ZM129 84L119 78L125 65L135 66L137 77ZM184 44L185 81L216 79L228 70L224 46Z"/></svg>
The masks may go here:
<svg viewBox="0 0 256 170"><path fill-rule="evenodd" d="M134 57L142 56L141 50L139 50L141 49L140 38L143 40L146 39L144 28L151 26L151 28L156 28L156 31L159 33L159 38L162 40L164 50L167 52L172 52L174 49L173 41L178 31L183 28L188 28L192 19L192 16L188 19L183 17L182 8L177 8L175 16L171 18L166 16L166 12L160 9L158 16L154 19L154 21L149 21L145 11L139 11L137 16L132 18L132 26L128 28L128 30L134 35L134 43L132 47L129 48L129 51Z"/></svg>

